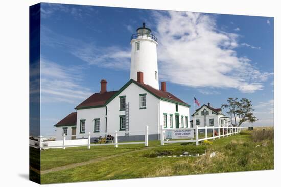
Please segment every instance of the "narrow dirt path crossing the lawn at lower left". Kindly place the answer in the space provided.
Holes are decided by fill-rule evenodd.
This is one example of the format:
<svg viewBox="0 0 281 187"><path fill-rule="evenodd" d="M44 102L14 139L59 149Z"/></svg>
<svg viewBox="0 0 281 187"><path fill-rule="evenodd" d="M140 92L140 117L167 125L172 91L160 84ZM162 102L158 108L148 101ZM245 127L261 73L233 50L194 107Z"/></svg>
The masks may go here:
<svg viewBox="0 0 281 187"><path fill-rule="evenodd" d="M74 164L60 166L60 167L56 167L56 168L52 168L52 169L48 169L48 170L43 170L43 171L40 172L40 174L43 175L43 174L50 173L50 172L62 171L62 170L67 170L67 169L71 169L71 168L76 168L78 166L84 166L84 165L87 165L87 164L97 163L97 162L105 161L106 159L122 156L122 155L128 154L128 153L134 153L134 152L139 152L139 151L143 151L143 150L148 150L148 149L152 149L152 148L158 147L158 146L160 146L160 145L151 146L151 147L145 147L143 149L128 151L128 152L124 152L124 153L120 153L120 154L115 154L115 155L111 155L111 156L90 159L89 161L85 161L85 162L81 162L81 163L74 163ZM30 167L30 169L33 170L32 167ZM39 173L38 170L34 169L33 171Z"/></svg>

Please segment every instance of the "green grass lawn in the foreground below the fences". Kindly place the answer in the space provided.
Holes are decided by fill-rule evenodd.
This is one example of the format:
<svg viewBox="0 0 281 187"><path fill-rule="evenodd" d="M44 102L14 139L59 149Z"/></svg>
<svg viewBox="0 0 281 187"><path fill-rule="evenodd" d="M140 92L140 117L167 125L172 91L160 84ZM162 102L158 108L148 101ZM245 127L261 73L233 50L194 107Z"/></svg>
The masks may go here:
<svg viewBox="0 0 281 187"><path fill-rule="evenodd" d="M262 132L263 133L263 132ZM41 175L41 183L65 183L78 181L144 178L157 176L222 173L273 169L273 137L255 140L253 132L243 131L213 141L212 145L195 146L180 143L159 146L159 141L150 141L149 149L139 145L97 146L50 149L41 151L41 168L48 169L67 163L127 152L97 163ZM261 135L259 135L261 136ZM153 147L151 147L153 146ZM137 152L130 152L139 150ZM205 154L199 157L163 157L159 153L179 155L182 152ZM210 153L216 152L211 158Z"/></svg>

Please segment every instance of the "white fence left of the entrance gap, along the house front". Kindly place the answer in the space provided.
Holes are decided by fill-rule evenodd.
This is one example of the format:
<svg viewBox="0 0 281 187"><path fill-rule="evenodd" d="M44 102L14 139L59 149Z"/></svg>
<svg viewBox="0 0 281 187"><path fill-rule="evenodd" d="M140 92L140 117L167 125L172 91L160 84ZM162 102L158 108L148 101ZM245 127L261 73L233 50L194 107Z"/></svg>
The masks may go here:
<svg viewBox="0 0 281 187"><path fill-rule="evenodd" d="M145 127L145 140L142 142L118 142L119 135L125 135L128 132L117 132L115 131L114 136L111 137L104 137L108 141L112 141L112 143L91 143L91 133L88 133L88 137L84 139L74 139L74 140L66 140L66 135L63 135L63 140L55 140L55 141L43 141L43 136L39 136L37 140L30 139L30 146L42 149L49 149L49 148L62 148L65 149L66 147L79 147L79 146L87 146L88 149L91 146L101 146L101 145L114 145L116 148L118 145L127 145L127 144L145 144L148 146L148 126ZM104 136L105 133L95 133L95 138L99 135ZM130 133L132 135L132 133ZM77 136L77 135L72 135ZM114 142L113 142L114 141Z"/></svg>

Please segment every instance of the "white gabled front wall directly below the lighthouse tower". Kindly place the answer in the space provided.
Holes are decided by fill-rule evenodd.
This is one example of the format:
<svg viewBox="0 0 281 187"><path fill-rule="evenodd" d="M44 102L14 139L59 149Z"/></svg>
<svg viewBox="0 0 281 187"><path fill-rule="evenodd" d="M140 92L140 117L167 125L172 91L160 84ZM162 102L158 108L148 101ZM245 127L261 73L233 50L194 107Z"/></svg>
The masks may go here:
<svg viewBox="0 0 281 187"><path fill-rule="evenodd" d="M146 109L139 109L139 94L146 95ZM157 114L159 99L151 95L143 88L131 83L125 90L116 96L107 105L107 131L113 133L120 129L120 115L125 115L125 111L120 111L119 96L126 96L126 103L129 103L129 132L130 135L143 135L145 126L149 126L149 133L158 133ZM125 132L125 131L120 131ZM132 133L131 133L132 132Z"/></svg>

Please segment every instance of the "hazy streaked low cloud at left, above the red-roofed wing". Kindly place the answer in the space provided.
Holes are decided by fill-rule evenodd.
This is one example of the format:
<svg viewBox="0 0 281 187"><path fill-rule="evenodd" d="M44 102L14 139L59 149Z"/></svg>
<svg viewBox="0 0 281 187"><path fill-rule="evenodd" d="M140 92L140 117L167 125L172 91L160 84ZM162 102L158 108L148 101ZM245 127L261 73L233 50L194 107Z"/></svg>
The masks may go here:
<svg viewBox="0 0 281 187"><path fill-rule="evenodd" d="M77 104L89 97L90 89L81 86L81 67L65 67L41 58L41 101Z"/></svg>

